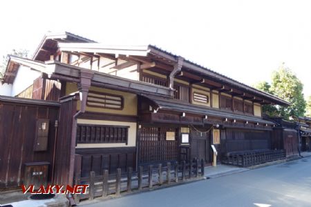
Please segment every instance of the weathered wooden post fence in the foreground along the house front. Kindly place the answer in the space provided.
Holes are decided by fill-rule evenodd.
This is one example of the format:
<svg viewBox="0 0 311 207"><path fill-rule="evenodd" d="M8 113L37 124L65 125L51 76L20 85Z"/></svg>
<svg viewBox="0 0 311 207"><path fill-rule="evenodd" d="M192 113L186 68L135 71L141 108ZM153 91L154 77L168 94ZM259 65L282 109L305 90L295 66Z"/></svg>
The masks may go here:
<svg viewBox="0 0 311 207"><path fill-rule="evenodd" d="M138 167L138 172L133 172L133 168L128 168L125 173L121 168L117 168L117 173L109 175L109 170L103 170L102 175L95 175L90 172L88 177L81 177L81 172L75 173L75 184L88 184L89 187L85 194L75 194L75 201L83 199L93 200L95 197L108 197L110 195L121 195L122 193L131 193L133 190L152 189L155 186L171 185L190 179L199 179L204 176L204 160L194 159L181 164L167 163L167 166L158 164L149 165L147 168Z"/></svg>

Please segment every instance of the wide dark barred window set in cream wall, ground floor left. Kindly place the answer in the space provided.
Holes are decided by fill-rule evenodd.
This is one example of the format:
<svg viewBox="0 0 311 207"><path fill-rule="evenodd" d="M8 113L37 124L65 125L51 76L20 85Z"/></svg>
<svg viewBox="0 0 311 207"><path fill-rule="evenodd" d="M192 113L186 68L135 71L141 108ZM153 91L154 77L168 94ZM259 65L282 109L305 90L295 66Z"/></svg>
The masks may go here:
<svg viewBox="0 0 311 207"><path fill-rule="evenodd" d="M129 126L77 125L77 144L125 143L129 139Z"/></svg>

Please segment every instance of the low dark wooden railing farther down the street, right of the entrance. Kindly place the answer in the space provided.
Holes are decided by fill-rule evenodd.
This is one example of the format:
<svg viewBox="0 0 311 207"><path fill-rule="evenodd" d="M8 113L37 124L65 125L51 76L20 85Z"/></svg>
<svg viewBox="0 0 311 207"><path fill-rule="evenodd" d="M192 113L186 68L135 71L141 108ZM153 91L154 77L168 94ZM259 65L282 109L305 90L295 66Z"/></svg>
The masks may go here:
<svg viewBox="0 0 311 207"><path fill-rule="evenodd" d="M250 150L228 152L223 156L223 164L234 166L249 167L263 164L268 161L285 159L285 150Z"/></svg>

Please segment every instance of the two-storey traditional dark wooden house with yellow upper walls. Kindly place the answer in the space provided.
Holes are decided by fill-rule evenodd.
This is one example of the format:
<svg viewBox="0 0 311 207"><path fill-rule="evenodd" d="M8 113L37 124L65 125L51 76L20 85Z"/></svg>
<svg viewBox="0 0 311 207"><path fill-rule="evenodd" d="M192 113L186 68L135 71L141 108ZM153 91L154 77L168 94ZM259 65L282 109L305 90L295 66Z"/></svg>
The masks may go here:
<svg viewBox="0 0 311 207"><path fill-rule="evenodd" d="M104 46L69 32L47 34L32 59L10 56L3 83L12 97L57 102L55 183L72 182L75 168L83 176L194 157L211 164L212 144L219 160L272 149L274 122L261 106L289 105L156 46Z"/></svg>

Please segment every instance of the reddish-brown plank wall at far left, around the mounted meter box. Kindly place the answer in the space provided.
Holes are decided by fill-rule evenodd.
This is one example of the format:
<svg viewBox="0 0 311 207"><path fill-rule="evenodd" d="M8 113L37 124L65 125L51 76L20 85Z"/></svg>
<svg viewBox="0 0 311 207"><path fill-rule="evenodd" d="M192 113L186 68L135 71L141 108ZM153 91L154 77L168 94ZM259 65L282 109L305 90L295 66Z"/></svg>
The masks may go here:
<svg viewBox="0 0 311 207"><path fill-rule="evenodd" d="M50 162L51 179L58 111L58 106L0 101L0 188L20 186L26 162ZM50 119L48 150L42 152L33 150L37 119Z"/></svg>

